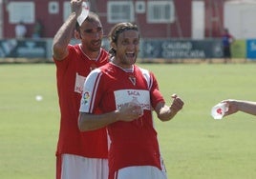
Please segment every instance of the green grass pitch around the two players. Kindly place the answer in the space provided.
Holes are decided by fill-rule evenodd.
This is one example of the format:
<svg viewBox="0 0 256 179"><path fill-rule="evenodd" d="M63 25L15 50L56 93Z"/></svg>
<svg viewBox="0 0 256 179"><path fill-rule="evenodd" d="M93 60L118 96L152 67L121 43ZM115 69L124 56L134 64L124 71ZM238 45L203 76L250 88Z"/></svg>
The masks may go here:
<svg viewBox="0 0 256 179"><path fill-rule="evenodd" d="M169 179L255 179L256 117L214 120L223 99L256 101L256 64L140 64L154 71L166 101L185 105L156 120ZM59 109L53 64L0 65L0 178L50 179L55 172ZM35 96L43 96L36 101Z"/></svg>

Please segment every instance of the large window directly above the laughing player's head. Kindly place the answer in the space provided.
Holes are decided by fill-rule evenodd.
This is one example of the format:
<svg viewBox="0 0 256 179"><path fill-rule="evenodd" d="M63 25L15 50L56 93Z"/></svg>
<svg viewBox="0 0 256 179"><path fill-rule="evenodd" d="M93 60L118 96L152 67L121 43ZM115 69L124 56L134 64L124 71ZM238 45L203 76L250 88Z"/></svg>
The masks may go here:
<svg viewBox="0 0 256 179"><path fill-rule="evenodd" d="M134 4L132 1L109 1L108 22L134 22Z"/></svg>

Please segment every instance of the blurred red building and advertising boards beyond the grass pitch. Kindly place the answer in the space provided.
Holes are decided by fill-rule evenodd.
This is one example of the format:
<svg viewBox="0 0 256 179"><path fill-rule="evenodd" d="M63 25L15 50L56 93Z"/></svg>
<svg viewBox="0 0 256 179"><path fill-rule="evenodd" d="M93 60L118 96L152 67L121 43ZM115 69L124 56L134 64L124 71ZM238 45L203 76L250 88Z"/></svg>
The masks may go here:
<svg viewBox="0 0 256 179"><path fill-rule="evenodd" d="M177 62L222 59L224 29L236 39L232 58L256 59L256 0L88 0L104 33L133 22L141 36L140 59ZM0 0L0 62L7 58L52 61L52 40L70 14L67 0ZM15 33L22 24L26 32ZM74 39L75 43L75 39ZM107 38L102 44L108 49Z"/></svg>

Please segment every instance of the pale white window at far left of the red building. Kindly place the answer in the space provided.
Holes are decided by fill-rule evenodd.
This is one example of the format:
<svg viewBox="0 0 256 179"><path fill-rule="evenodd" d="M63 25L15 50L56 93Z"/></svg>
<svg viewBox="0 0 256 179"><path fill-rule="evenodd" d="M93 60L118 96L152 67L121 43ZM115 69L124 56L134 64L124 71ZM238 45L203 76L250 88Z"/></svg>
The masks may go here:
<svg viewBox="0 0 256 179"><path fill-rule="evenodd" d="M33 2L10 2L9 21L11 24L23 22L31 24L34 22L34 3Z"/></svg>

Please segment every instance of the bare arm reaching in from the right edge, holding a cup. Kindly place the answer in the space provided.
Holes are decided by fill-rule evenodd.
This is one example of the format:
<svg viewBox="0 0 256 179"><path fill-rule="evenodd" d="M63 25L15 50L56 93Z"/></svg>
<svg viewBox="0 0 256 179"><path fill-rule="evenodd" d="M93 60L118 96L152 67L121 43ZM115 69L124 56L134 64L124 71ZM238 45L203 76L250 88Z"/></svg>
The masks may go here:
<svg viewBox="0 0 256 179"><path fill-rule="evenodd" d="M236 113L237 111L243 111L248 114L256 115L256 102L228 99L222 101L227 104L228 110L225 112L224 116Z"/></svg>

